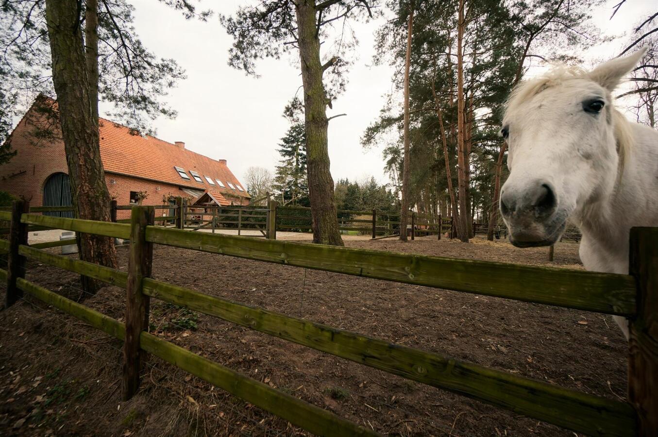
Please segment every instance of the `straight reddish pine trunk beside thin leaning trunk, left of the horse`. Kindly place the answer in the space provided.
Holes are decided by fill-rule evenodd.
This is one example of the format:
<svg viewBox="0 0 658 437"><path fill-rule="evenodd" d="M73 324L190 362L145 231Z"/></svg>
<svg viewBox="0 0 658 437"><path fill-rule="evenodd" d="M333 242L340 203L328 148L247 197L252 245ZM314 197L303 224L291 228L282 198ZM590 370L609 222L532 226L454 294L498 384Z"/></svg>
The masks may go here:
<svg viewBox="0 0 658 437"><path fill-rule="evenodd" d="M459 213L461 215L461 229L458 231L459 240L468 242L468 206L466 186L466 150L465 150L465 122L464 122L464 0L459 0L459 21L457 22L457 181L459 183Z"/></svg>

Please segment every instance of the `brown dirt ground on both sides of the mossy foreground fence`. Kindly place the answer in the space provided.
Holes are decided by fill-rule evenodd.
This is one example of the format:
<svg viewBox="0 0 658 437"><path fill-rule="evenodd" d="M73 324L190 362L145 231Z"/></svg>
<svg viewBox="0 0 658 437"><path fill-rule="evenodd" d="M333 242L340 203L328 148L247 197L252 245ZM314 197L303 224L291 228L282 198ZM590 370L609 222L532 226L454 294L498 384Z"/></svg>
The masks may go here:
<svg viewBox="0 0 658 437"><path fill-rule="evenodd" d="M578 245L348 240L349 247L582 269ZM56 249L53 249L56 250ZM127 249L118 249L126 269ZM626 344L610 317L156 246L153 276L248 305L618 399ZM76 275L37 263L28 279L80 299ZM4 292L4 290L2 290ZM122 318L124 290L86 305ZM151 332L393 436L573 436L555 426L291 344L162 301ZM0 312L0 434L305 435L282 419L151 357L121 401L121 343L29 297Z"/></svg>

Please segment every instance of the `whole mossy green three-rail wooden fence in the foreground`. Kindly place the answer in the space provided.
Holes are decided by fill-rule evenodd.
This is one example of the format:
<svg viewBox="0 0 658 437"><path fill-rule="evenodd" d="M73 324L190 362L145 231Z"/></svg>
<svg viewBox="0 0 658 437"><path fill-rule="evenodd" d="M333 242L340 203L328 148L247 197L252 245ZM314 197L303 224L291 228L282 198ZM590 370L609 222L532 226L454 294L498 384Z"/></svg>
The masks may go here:
<svg viewBox="0 0 658 437"><path fill-rule="evenodd" d="M7 305L27 293L123 340L124 399L138 390L141 358L150 353L315 434L376 435L374 429L149 334L149 299L157 298L576 432L657 434L658 228L631 230L631 274L624 275L186 232L153 226L152 207L134 207L130 224L24 211L20 201L11 212L0 211L0 220L11 222L9 240L0 240L0 250L9 253L7 270L0 270L0 278L7 280ZM28 226L129 238L128 272L27 245ZM628 401L593 396L161 282L150 277L153 244L629 317ZM126 288L125 324L25 280L26 259Z"/></svg>

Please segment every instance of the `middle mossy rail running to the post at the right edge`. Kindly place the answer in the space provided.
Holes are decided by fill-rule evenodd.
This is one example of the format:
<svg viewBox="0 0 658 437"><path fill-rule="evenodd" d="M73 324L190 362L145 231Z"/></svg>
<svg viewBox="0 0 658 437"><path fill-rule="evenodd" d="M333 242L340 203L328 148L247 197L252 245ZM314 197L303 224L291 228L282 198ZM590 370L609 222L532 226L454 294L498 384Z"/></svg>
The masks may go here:
<svg viewBox="0 0 658 437"><path fill-rule="evenodd" d="M634 410L511 373L144 279L144 293L318 351L581 432L633 435ZM577 412L577 413L576 413ZM575 413L575 414L574 414Z"/></svg>

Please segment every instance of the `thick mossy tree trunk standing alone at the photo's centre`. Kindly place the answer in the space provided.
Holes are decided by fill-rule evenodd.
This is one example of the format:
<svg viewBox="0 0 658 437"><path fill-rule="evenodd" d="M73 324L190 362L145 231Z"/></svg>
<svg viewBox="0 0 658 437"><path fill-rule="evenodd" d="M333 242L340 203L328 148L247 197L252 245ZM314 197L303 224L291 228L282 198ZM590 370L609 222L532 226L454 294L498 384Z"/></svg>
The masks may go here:
<svg viewBox="0 0 658 437"><path fill-rule="evenodd" d="M329 170L329 152L326 116L328 103L322 84L322 74L331 61L320 63L320 39L316 28L314 0L298 0L297 38L301 79L304 87L304 116L306 125L307 172L311 217L313 217L313 242L343 245L338 230L338 214L334 200L334 180ZM336 62L336 60L332 60Z"/></svg>

